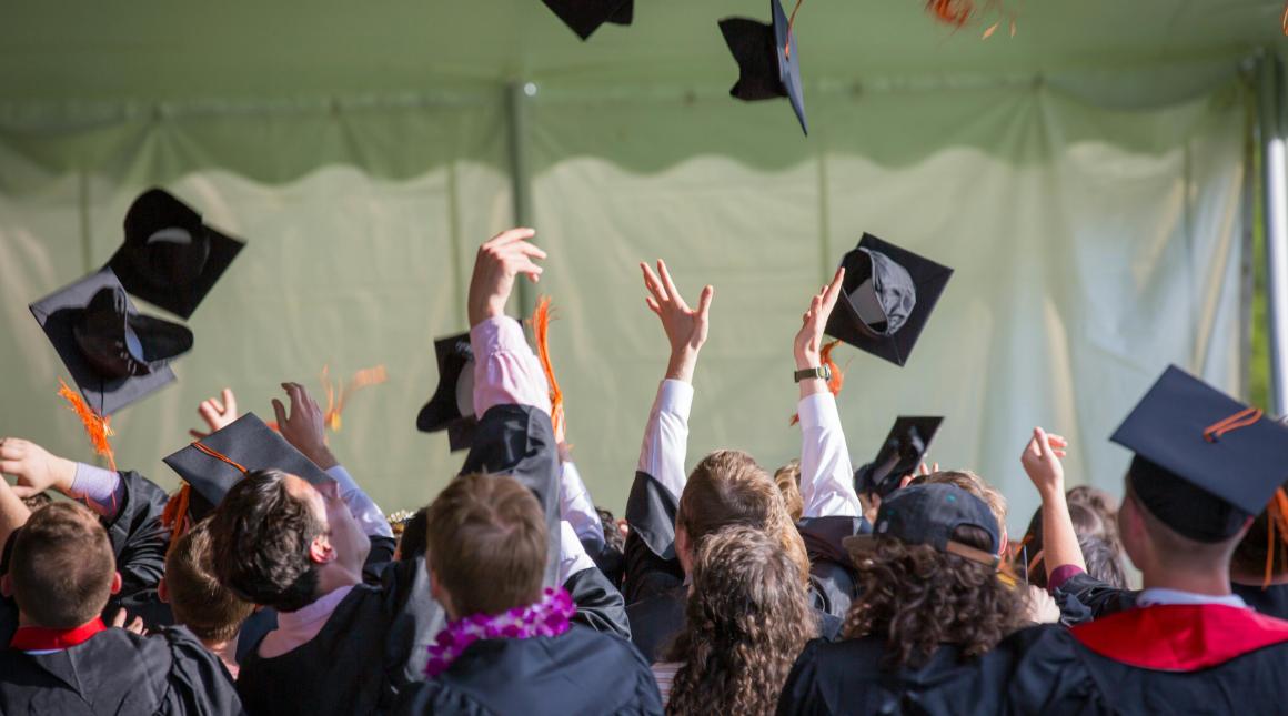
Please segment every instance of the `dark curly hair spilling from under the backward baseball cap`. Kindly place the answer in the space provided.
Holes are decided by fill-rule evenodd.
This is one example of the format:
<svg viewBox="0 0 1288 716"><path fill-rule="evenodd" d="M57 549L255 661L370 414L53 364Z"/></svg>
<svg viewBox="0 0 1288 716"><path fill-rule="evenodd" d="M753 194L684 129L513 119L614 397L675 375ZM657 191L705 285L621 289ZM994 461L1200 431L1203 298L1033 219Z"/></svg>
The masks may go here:
<svg viewBox="0 0 1288 716"><path fill-rule="evenodd" d="M953 541L992 546L988 533L970 525L958 527ZM940 644L975 657L1024 626L1024 598L984 564L891 537L858 541L850 558L862 596L850 605L844 635L885 637L884 668L922 666Z"/></svg>

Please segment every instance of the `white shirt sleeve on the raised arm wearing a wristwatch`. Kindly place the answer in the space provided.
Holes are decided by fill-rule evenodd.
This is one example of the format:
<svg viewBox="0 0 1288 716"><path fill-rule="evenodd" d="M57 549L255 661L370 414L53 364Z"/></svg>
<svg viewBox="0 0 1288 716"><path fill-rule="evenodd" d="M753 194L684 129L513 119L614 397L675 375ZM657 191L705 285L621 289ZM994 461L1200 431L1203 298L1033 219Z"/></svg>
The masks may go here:
<svg viewBox="0 0 1288 716"><path fill-rule="evenodd" d="M831 393L814 393L797 404L801 421L801 501L804 518L859 516L854 469Z"/></svg>

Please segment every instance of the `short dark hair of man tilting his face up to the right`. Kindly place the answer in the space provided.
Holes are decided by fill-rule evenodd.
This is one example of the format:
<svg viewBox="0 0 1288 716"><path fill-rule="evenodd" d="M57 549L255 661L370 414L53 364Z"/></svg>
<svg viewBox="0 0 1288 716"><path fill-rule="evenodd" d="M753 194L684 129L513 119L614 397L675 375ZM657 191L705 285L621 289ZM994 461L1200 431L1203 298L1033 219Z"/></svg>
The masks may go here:
<svg viewBox="0 0 1288 716"><path fill-rule="evenodd" d="M242 599L295 612L317 599L309 547L326 529L308 502L286 488L286 473L247 473L210 520L215 577Z"/></svg>

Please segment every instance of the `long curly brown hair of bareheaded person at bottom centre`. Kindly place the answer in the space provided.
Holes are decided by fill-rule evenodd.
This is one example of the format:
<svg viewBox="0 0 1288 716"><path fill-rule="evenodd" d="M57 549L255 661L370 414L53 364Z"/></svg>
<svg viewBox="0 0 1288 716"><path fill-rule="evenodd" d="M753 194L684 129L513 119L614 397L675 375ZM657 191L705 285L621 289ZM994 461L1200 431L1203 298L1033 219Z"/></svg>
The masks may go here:
<svg viewBox="0 0 1288 716"><path fill-rule="evenodd" d="M732 525L708 534L693 565L684 630L666 653L681 662L667 713L773 713L811 636L800 565L773 536Z"/></svg>

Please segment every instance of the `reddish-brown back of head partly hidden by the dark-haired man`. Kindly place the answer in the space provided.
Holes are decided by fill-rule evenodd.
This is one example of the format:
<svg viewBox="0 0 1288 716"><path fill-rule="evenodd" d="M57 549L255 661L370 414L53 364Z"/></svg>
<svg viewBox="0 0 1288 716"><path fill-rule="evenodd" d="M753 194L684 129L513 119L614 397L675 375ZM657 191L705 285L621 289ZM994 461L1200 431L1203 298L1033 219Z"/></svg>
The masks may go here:
<svg viewBox="0 0 1288 716"><path fill-rule="evenodd" d="M174 619L207 644L229 641L255 605L219 583L211 569L210 519L183 533L165 558L165 586Z"/></svg>

